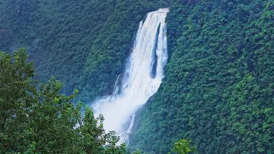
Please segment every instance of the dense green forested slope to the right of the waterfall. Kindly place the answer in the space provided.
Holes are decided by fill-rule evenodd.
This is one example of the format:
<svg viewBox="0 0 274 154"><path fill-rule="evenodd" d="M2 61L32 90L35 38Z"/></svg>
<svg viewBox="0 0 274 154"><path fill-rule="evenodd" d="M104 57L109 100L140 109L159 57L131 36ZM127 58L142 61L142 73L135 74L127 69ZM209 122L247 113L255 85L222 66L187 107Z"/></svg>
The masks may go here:
<svg viewBox="0 0 274 154"><path fill-rule="evenodd" d="M170 8L172 55L131 145L165 153L187 138L200 153L273 153L273 15L273 1Z"/></svg>

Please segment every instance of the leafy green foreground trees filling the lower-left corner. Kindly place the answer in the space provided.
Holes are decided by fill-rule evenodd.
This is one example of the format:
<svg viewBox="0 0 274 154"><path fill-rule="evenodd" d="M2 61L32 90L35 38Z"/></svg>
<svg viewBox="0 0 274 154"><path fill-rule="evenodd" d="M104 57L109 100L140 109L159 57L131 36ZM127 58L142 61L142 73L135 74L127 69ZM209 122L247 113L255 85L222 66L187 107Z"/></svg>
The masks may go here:
<svg viewBox="0 0 274 154"><path fill-rule="evenodd" d="M81 102L72 103L77 90L60 94L63 84L54 78L37 90L33 75L26 49L13 57L0 52L0 153L125 152L124 144L116 145L115 132L105 132L102 115L94 118L86 108L81 117Z"/></svg>

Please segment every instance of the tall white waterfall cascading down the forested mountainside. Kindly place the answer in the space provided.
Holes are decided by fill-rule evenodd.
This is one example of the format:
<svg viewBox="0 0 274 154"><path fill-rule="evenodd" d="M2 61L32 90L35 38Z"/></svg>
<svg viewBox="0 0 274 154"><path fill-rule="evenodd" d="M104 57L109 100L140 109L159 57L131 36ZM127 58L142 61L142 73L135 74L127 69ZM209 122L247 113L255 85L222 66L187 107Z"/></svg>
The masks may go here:
<svg viewBox="0 0 274 154"><path fill-rule="evenodd" d="M95 115L104 115L105 130L114 130L120 143L129 142L135 111L157 92L163 78L167 60L165 17L169 10L150 12L141 21L122 83L115 83L111 96L97 100L93 105Z"/></svg>

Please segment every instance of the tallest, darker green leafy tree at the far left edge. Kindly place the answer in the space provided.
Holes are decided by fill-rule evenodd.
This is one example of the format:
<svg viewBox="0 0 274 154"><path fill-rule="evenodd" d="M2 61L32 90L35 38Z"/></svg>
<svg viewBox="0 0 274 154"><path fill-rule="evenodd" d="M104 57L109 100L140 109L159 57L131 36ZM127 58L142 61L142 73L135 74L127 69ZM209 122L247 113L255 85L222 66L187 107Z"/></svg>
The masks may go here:
<svg viewBox="0 0 274 154"><path fill-rule="evenodd" d="M0 52L0 151L18 151L28 145L24 141L29 133L27 115L37 93L31 81L33 66L26 59L24 48L13 57Z"/></svg>

